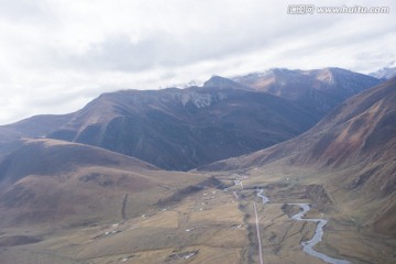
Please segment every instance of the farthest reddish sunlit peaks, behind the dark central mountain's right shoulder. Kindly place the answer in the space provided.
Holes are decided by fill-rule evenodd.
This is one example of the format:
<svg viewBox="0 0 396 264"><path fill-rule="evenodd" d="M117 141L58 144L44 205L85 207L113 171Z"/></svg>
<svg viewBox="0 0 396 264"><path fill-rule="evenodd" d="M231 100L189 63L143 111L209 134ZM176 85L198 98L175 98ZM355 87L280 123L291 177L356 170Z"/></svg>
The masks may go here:
<svg viewBox="0 0 396 264"><path fill-rule="evenodd" d="M349 97L378 85L380 79L342 68L271 69L233 78L253 90L299 102L322 117Z"/></svg>

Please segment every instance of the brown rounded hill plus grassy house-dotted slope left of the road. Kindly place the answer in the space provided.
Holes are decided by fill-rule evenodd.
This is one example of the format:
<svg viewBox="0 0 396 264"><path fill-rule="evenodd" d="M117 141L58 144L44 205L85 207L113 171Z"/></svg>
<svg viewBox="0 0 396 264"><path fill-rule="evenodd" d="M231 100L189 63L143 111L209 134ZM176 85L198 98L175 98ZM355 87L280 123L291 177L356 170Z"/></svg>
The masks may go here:
<svg viewBox="0 0 396 264"><path fill-rule="evenodd" d="M77 143L22 144L0 163L0 263L248 263L245 216L219 179Z"/></svg>

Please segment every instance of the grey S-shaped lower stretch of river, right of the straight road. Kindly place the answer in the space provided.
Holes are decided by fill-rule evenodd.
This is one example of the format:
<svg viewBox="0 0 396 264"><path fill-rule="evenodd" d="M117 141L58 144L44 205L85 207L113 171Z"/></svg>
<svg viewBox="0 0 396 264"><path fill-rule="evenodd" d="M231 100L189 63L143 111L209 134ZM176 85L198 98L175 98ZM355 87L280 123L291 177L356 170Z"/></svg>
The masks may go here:
<svg viewBox="0 0 396 264"><path fill-rule="evenodd" d="M302 250L306 253L308 253L311 256L318 257L327 263L331 263L331 264L350 264L351 263L349 261L333 258L323 253L315 251L314 246L321 241L321 239L323 237L323 227L327 224L328 221L326 219L319 219L319 218L318 219L302 218L304 215L306 215L310 209L308 204L289 204L289 205L299 206L302 209L302 211L294 215L292 217L292 219L297 220L297 221L306 221L306 222L316 222L317 223L317 229L315 231L314 238L309 241L301 242Z"/></svg>

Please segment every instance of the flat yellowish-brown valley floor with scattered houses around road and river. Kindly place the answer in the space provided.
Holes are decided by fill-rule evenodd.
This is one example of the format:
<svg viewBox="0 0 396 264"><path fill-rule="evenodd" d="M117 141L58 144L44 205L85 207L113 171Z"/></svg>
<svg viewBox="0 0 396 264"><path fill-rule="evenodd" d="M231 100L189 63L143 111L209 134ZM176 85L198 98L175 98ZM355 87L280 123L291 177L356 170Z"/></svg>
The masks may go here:
<svg viewBox="0 0 396 264"><path fill-rule="evenodd" d="M260 263L254 201L263 263L324 263L302 251L300 243L311 239L316 223L293 220L299 208L290 202L310 204L306 217L329 220L317 251L351 263L396 262L396 241L359 230L320 185L307 188L304 179L268 175L217 175L230 186L227 190L207 187L124 220L80 228L4 229L0 263ZM270 202L262 202L257 188Z"/></svg>

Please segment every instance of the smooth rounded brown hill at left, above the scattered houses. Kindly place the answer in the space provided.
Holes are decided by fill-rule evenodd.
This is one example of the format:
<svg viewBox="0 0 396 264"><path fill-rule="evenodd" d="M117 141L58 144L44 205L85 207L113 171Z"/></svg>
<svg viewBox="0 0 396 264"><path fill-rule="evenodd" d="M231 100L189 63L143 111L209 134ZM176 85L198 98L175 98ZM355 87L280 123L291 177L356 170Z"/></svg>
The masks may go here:
<svg viewBox="0 0 396 264"><path fill-rule="evenodd" d="M202 180L99 147L26 140L0 163L0 227L128 219Z"/></svg>

